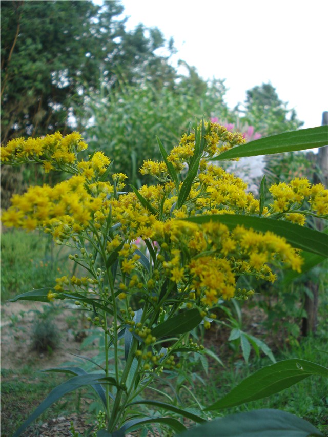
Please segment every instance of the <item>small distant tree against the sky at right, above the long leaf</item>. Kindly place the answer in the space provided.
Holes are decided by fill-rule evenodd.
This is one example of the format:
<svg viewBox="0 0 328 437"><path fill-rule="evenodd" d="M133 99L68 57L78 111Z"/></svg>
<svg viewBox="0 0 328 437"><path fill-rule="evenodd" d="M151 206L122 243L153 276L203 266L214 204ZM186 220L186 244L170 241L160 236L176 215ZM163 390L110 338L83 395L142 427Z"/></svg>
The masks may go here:
<svg viewBox="0 0 328 437"><path fill-rule="evenodd" d="M241 113L241 120L254 126L256 132L274 135L296 130L303 124L297 119L296 111L287 109L287 105L269 83L248 90L244 110L236 109Z"/></svg>

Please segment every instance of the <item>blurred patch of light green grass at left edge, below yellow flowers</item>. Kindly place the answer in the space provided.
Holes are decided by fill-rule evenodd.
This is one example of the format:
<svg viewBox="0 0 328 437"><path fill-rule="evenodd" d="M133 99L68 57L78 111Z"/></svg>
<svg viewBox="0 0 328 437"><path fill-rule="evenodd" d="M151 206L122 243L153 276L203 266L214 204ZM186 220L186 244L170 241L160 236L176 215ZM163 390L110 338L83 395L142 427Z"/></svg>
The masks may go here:
<svg viewBox="0 0 328 437"><path fill-rule="evenodd" d="M2 302L33 288L52 287L66 273L67 249L55 249L50 236L19 230L1 235Z"/></svg>

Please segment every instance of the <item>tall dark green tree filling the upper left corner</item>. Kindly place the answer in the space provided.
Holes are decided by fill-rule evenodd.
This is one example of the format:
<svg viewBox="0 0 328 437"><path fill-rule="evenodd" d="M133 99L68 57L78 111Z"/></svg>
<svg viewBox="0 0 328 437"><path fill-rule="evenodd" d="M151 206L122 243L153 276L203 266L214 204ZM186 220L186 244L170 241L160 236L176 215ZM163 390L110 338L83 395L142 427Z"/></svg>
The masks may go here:
<svg viewBox="0 0 328 437"><path fill-rule="evenodd" d="M86 90L142 75L172 80L158 29L125 30L117 0L1 1L1 141L70 131L68 119ZM172 48L172 41L169 44ZM160 67L160 69L159 69ZM101 71L101 74L100 74Z"/></svg>

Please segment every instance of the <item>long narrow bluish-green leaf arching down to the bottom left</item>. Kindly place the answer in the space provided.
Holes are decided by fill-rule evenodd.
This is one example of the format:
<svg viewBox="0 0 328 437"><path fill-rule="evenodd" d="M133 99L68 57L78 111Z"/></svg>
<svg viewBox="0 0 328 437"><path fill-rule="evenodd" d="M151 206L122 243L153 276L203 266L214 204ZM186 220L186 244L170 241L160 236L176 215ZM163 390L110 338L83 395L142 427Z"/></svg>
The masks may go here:
<svg viewBox="0 0 328 437"><path fill-rule="evenodd" d="M14 433L14 437L18 437L20 434L22 434L22 432L30 425L30 423L37 419L40 414L42 414L47 408L50 407L50 405L63 397L64 394L76 390L77 388L80 388L84 385L94 385L99 384L100 382L108 382L111 385L116 385L115 379L110 377L104 377L104 373L87 373L79 375L58 385L48 394L47 398L42 403L40 403L40 405L33 411L30 417L22 425L20 425L20 427Z"/></svg>

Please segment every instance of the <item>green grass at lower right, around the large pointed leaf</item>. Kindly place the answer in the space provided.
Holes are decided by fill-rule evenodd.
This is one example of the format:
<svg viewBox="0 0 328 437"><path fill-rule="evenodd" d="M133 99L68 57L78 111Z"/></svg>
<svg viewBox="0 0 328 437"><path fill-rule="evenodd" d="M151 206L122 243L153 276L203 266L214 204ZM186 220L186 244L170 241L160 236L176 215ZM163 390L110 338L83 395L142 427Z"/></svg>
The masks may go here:
<svg viewBox="0 0 328 437"><path fill-rule="evenodd" d="M328 367L328 355L324 352L326 337L320 335L304 338L298 347L285 350L277 361L300 358ZM197 397L203 405L211 405L228 393L244 378L263 366L272 364L268 359L258 359L246 365L238 360L233 367L210 372L206 386L198 385ZM203 376L204 378L204 376ZM322 377L313 376L285 389L273 396L249 402L245 405L220 411L223 415L260 408L276 408L288 411L308 420L328 436L328 383Z"/></svg>

